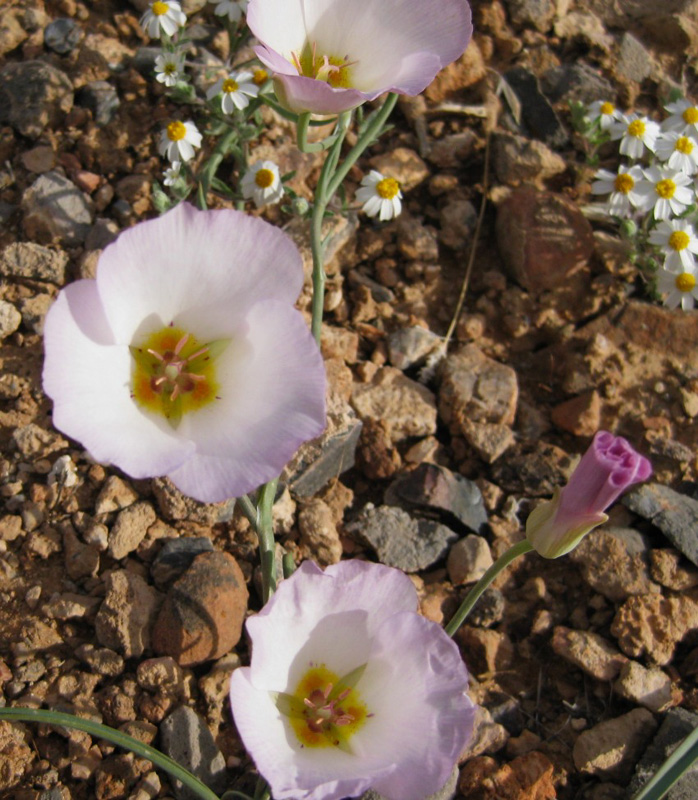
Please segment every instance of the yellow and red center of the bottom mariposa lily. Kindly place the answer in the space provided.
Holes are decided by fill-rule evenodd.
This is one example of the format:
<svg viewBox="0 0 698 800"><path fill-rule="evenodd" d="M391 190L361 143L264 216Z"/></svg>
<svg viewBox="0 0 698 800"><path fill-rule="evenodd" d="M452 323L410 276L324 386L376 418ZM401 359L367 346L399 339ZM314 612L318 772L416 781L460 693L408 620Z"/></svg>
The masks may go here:
<svg viewBox="0 0 698 800"><path fill-rule="evenodd" d="M301 747L351 752L349 739L373 716L354 688L364 669L365 665L340 678L324 664L311 666L293 694L276 695L276 707L288 717Z"/></svg>

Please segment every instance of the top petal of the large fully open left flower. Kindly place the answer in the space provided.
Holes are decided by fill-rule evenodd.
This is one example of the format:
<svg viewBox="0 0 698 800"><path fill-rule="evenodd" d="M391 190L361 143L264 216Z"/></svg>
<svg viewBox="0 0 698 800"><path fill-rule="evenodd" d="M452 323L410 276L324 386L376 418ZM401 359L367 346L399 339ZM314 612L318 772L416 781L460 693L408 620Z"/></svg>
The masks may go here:
<svg viewBox="0 0 698 800"><path fill-rule="evenodd" d="M97 272L105 314L122 344L131 344L148 318L146 333L177 319L199 339L220 338L257 300L292 303L302 285L298 250L278 228L187 203L124 231L102 253Z"/></svg>

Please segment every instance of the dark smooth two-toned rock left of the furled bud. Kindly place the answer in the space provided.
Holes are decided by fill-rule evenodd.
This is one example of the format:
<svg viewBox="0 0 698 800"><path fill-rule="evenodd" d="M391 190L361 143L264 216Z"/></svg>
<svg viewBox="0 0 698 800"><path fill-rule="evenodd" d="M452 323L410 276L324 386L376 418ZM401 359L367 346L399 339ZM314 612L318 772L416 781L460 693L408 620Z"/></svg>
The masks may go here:
<svg viewBox="0 0 698 800"><path fill-rule="evenodd" d="M487 526L487 510L477 485L436 464L420 464L412 472L400 475L383 499L386 505L408 511L444 512L447 521L455 518L473 533L482 534Z"/></svg>

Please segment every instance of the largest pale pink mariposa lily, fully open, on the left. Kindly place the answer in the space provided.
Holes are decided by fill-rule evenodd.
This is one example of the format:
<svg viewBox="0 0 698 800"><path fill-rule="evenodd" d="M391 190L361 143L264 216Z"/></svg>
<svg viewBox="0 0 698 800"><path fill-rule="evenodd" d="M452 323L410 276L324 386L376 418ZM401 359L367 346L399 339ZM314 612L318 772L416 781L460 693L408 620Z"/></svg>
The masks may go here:
<svg viewBox="0 0 698 800"><path fill-rule="evenodd" d="M325 426L322 358L286 234L182 203L124 231L46 317L53 421L133 478L204 502L279 474Z"/></svg>

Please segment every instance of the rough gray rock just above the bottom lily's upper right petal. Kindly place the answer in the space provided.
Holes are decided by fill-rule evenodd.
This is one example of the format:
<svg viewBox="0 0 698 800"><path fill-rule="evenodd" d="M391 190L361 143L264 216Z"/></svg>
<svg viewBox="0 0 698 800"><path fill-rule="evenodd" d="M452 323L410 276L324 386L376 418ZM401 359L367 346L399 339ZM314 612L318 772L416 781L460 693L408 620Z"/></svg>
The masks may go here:
<svg viewBox="0 0 698 800"><path fill-rule="evenodd" d="M376 551L381 563L403 572L418 572L446 556L458 534L431 520L416 520L401 508L366 506L346 526Z"/></svg>

